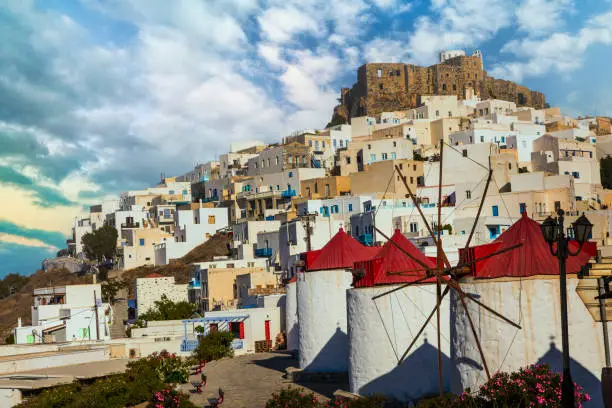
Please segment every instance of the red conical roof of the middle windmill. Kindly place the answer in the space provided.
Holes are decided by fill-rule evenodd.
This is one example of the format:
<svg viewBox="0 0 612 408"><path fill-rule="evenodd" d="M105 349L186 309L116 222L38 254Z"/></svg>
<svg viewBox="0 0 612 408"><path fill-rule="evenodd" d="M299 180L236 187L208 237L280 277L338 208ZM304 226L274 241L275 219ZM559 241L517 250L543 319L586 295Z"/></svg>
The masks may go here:
<svg viewBox="0 0 612 408"><path fill-rule="evenodd" d="M404 234L399 230L395 230L391 239L382 246L374 258L355 263L355 270L363 269L365 272L365 276L362 279L355 281L355 287L409 283L425 276L425 270L427 268L424 268L423 265L406 255L393 243L399 245L412 257L423 262L427 268L435 268L435 260L425 256L425 254L419 251ZM389 274L390 272L404 272L405 274L392 275ZM428 279L424 282L435 282L435 278Z"/></svg>

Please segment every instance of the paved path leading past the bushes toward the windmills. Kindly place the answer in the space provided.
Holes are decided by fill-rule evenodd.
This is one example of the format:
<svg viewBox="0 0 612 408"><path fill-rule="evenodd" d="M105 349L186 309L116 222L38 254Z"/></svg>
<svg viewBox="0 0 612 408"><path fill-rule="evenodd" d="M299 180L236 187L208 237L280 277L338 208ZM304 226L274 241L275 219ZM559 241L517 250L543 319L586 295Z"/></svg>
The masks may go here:
<svg viewBox="0 0 612 408"><path fill-rule="evenodd" d="M181 389L190 394L191 400L198 406L206 406L208 399L216 397L221 387L225 391L223 406L264 408L273 392L291 384L283 378L285 369L291 366L297 366L297 361L286 353L257 353L213 361L204 368L208 383L202 394L192 393L191 384L184 384ZM191 381L199 378L199 374L193 375ZM313 391L321 400L331 397L338 388L347 389L347 384L331 382L293 386Z"/></svg>

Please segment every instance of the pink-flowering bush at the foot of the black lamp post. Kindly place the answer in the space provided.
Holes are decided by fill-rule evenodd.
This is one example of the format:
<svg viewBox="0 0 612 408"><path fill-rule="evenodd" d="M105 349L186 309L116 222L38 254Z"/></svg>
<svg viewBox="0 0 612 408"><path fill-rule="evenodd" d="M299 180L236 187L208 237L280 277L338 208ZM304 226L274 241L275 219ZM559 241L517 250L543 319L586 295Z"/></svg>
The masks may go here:
<svg viewBox="0 0 612 408"><path fill-rule="evenodd" d="M532 365L513 373L497 373L478 392L459 396L460 406L561 407L562 376L547 364ZM591 397L574 383L576 407Z"/></svg>

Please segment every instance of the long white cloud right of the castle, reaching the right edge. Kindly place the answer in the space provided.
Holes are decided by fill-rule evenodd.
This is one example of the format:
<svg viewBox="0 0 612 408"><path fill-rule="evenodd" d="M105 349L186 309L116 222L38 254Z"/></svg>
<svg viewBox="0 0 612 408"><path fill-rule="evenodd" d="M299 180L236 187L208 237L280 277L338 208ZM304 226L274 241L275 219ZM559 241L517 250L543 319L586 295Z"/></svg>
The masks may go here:
<svg viewBox="0 0 612 408"><path fill-rule="evenodd" d="M542 76L549 72L567 74L580 68L584 54L594 45L612 45L612 11L590 19L575 34L555 32L542 38L524 38L506 43L502 52L519 61L504 62L493 67L494 76L520 82L526 76Z"/></svg>

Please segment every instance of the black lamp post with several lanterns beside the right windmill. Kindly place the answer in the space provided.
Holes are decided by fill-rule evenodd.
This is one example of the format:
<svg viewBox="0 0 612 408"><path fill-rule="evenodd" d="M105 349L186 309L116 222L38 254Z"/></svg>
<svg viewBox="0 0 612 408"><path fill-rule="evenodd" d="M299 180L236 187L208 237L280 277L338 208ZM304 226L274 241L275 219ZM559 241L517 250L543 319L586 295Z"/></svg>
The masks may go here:
<svg viewBox="0 0 612 408"><path fill-rule="evenodd" d="M557 211L557 218L548 217L542 223L542 235L548 243L550 253L556 256L559 260L559 286L561 293L561 338L563 347L563 382L561 383L561 405L563 408L574 408L574 382L570 372L570 356L569 356L569 330L567 323L567 280L565 272L565 262L568 256L576 256L582 250L582 245L588 241L591 234L593 224L582 214L572 224L572 230L575 240L580 244L578 250L573 253L569 250L569 240L565 236L563 227L563 210ZM557 244L556 251L553 249L553 244Z"/></svg>

